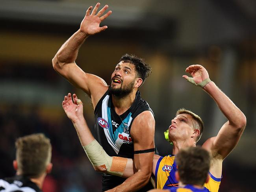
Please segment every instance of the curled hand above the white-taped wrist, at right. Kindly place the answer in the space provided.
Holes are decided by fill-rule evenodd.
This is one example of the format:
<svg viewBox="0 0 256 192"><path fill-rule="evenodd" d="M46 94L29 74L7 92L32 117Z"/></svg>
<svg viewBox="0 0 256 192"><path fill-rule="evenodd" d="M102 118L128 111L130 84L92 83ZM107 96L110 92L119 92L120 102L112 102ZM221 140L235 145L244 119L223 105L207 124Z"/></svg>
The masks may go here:
<svg viewBox="0 0 256 192"><path fill-rule="evenodd" d="M209 74L206 68L204 68L202 65L190 65L186 68L186 72L191 74L195 83L197 84L209 78ZM187 75L184 75L182 77L185 79L189 78L189 76Z"/></svg>

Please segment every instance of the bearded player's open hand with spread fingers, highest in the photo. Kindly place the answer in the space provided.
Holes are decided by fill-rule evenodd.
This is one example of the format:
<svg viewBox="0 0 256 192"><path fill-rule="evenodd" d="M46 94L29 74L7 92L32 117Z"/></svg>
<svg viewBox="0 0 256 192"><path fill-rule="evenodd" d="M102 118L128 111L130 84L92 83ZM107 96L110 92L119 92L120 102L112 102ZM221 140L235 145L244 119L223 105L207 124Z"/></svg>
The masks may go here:
<svg viewBox="0 0 256 192"><path fill-rule="evenodd" d="M93 6L90 6L87 11L86 15L83 18L80 30L87 33L87 35L94 35L96 33L100 33L101 31L104 31L108 28L108 26L100 27L100 22L102 22L105 18L107 18L112 11L108 11L105 15L101 16L106 9L108 9L108 5L105 5L97 14L98 7L100 6L100 3L97 3L96 6L93 9L93 12L90 15L91 9Z"/></svg>

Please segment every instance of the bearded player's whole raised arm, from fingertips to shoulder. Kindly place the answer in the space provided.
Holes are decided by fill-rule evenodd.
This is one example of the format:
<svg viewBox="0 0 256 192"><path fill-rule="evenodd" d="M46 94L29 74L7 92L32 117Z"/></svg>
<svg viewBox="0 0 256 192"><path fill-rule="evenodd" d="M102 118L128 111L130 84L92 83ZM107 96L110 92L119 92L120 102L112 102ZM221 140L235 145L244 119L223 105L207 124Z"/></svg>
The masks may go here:
<svg viewBox="0 0 256 192"><path fill-rule="evenodd" d="M91 97L94 107L108 89L107 84L102 78L83 72L83 70L76 65L75 60L78 55L78 50L85 39L107 28L107 26L100 27L100 22L107 18L111 14L111 11L102 15L108 8L108 5L106 5L96 14L99 6L100 3L97 3L91 15L92 6L87 9L80 29L61 46L52 59L54 69L74 86L85 91Z"/></svg>

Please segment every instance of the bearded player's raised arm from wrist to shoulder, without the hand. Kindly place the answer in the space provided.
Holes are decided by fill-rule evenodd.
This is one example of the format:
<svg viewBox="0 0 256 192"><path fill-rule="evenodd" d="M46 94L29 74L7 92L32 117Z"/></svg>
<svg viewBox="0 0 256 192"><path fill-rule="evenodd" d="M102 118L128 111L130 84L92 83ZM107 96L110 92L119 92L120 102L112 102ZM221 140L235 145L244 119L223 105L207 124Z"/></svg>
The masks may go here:
<svg viewBox="0 0 256 192"><path fill-rule="evenodd" d="M52 59L54 70L66 78L72 85L82 89L88 94L95 107L96 103L108 89L107 83L100 77L84 72L75 63L78 49L88 37L78 30L59 49ZM98 94L97 94L98 93Z"/></svg>

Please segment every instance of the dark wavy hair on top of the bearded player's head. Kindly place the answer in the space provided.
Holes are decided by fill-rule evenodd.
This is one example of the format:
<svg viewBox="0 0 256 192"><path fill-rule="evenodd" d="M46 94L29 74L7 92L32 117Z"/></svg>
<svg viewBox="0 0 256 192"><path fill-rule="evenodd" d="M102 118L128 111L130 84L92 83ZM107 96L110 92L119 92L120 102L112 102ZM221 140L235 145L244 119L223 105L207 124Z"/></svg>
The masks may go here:
<svg viewBox="0 0 256 192"><path fill-rule="evenodd" d="M144 59L137 57L136 55L129 55L124 54L122 55L119 62L124 61L125 63L132 63L135 65L135 70L137 71L137 75L139 78L143 80L143 83L145 79L149 76L151 73L151 67L148 65Z"/></svg>

